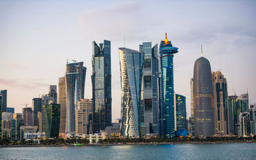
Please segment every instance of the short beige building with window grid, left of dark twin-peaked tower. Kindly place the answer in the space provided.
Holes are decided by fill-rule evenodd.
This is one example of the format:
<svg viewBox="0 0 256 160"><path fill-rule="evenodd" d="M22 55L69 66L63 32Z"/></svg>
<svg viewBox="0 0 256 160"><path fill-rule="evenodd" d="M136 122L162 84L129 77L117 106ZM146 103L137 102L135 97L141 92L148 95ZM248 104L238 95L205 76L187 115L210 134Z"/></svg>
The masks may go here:
<svg viewBox="0 0 256 160"><path fill-rule="evenodd" d="M78 109L75 111L75 135L92 134L92 100L78 100Z"/></svg>

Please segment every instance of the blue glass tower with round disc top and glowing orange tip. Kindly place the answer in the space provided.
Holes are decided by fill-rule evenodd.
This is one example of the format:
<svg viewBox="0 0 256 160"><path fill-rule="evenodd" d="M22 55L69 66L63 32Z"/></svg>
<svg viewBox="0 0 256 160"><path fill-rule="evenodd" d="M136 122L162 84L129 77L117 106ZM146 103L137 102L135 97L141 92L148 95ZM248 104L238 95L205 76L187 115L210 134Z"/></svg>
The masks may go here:
<svg viewBox="0 0 256 160"><path fill-rule="evenodd" d="M159 137L175 135L173 55L177 52L165 33L165 41L159 47Z"/></svg>

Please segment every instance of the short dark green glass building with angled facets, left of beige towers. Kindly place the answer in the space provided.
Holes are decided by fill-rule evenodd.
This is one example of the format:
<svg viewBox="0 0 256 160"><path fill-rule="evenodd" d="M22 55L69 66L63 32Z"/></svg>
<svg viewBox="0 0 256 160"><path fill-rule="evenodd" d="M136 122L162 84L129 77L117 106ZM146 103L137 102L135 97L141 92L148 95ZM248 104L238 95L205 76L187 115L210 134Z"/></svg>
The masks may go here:
<svg viewBox="0 0 256 160"><path fill-rule="evenodd" d="M60 112L59 104L42 105L42 132L46 137L59 137Z"/></svg>

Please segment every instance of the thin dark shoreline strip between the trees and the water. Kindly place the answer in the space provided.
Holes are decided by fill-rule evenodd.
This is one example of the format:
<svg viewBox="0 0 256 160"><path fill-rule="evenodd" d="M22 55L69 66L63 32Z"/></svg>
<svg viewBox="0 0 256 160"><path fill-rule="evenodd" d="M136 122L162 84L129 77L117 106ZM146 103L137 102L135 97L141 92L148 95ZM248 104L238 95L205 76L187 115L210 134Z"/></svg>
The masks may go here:
<svg viewBox="0 0 256 160"><path fill-rule="evenodd" d="M127 143L127 144L88 144L83 146L74 145L0 145L0 148L19 148L19 147L89 147L89 146L112 146L112 145L206 145L206 144L227 144L227 143L246 143L246 141L219 141L219 142L189 142L189 143ZM255 142L252 142L255 143Z"/></svg>

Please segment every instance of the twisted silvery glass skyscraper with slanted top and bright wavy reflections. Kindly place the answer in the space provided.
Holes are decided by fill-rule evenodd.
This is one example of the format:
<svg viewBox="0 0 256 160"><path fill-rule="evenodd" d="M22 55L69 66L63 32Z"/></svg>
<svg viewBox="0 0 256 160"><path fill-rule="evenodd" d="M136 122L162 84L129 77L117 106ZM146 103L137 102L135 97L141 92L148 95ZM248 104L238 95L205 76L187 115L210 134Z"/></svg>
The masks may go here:
<svg viewBox="0 0 256 160"><path fill-rule="evenodd" d="M140 94L144 53L119 48L121 71L121 136L140 136Z"/></svg>

